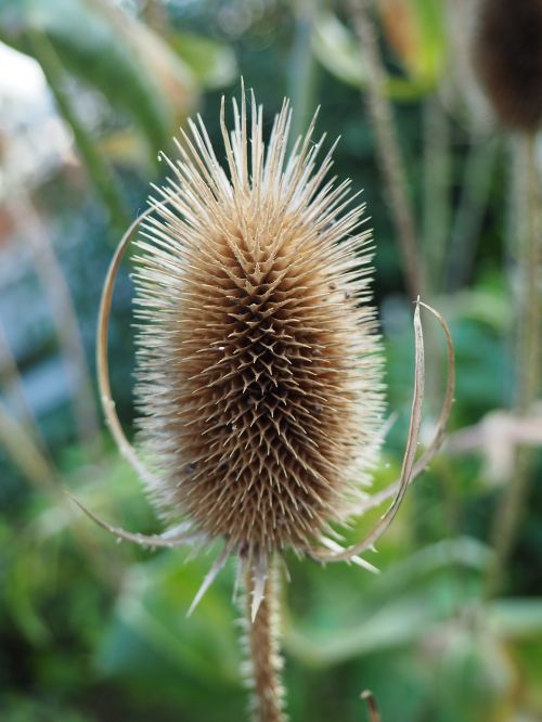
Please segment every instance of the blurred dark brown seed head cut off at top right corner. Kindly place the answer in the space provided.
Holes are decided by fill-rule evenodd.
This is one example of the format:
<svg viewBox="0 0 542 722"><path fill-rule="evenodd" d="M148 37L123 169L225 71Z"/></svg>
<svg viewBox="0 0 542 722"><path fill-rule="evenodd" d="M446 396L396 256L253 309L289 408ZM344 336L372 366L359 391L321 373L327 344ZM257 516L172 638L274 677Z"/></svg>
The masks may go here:
<svg viewBox="0 0 542 722"><path fill-rule="evenodd" d="M474 40L478 75L501 121L542 121L542 0L481 0Z"/></svg>

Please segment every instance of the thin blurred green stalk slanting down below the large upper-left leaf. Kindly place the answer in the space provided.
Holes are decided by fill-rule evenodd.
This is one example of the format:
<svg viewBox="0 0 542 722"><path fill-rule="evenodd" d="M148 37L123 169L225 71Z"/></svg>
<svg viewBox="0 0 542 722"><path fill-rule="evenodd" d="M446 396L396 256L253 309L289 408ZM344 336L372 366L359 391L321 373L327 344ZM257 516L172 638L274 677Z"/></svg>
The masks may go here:
<svg viewBox="0 0 542 722"><path fill-rule="evenodd" d="M80 123L67 93L63 90L64 68L51 41L47 35L36 30L28 30L27 39L46 75L59 112L74 134L75 144L96 194L109 212L115 232L119 233L129 224L129 215L115 175Z"/></svg>

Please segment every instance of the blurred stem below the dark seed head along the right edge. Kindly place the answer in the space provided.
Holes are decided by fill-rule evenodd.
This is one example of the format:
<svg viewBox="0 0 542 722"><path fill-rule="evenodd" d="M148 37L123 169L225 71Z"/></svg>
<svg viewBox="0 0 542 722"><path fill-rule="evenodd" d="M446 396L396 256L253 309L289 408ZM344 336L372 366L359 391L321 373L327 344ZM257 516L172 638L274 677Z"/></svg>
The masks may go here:
<svg viewBox="0 0 542 722"><path fill-rule="evenodd" d="M518 234L519 283L515 411L517 416L522 418L529 414L531 405L537 399L541 364L540 319L542 308L538 283L542 266L542 248L534 136L528 134L522 138L516 152L524 154L526 175L525 225L520 224L518 209L516 209L516 224L521 228L521 232ZM494 519L495 557L486 582L486 593L490 597L501 591L503 573L514 551L525 511L529 486L534 473L534 463L533 449L525 446L516 447L515 474L505 490Z"/></svg>

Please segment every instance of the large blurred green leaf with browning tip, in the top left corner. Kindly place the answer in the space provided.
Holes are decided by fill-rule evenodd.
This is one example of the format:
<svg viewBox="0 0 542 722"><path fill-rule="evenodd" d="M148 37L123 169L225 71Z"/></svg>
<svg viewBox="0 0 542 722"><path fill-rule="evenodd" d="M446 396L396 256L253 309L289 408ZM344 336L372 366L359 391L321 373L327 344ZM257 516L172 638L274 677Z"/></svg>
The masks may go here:
<svg viewBox="0 0 542 722"><path fill-rule="evenodd" d="M182 60L142 23L104 2L0 0L0 38L31 53L31 33L47 36L63 67L127 113L156 154L195 101Z"/></svg>

